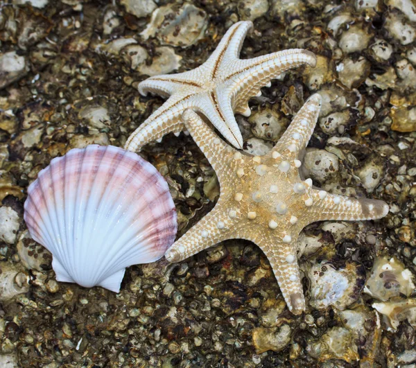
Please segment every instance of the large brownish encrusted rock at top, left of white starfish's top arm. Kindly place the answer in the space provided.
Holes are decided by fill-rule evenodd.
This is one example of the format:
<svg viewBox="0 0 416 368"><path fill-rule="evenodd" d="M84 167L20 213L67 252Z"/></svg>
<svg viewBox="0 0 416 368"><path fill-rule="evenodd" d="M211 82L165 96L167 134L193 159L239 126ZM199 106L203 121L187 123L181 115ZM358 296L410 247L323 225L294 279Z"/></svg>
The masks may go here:
<svg viewBox="0 0 416 368"><path fill-rule="evenodd" d="M144 40L157 37L162 44L189 46L199 40L207 28L204 10L186 3L184 6L169 4L157 8L152 19L141 33Z"/></svg>

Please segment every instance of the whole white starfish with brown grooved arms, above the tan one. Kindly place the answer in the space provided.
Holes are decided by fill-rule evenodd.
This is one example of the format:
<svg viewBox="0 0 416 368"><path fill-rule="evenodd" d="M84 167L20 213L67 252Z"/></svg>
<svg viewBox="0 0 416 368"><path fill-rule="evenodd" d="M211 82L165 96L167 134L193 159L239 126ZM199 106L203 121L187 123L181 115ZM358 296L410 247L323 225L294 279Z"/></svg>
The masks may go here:
<svg viewBox="0 0 416 368"><path fill-rule="evenodd" d="M311 51L291 49L241 60L239 54L251 21L234 24L209 59L200 67L184 73L154 76L139 84L139 92L169 97L166 102L133 132L125 143L126 150L136 151L164 134L179 134L185 109L207 116L223 137L236 148L243 147L243 137L234 113L250 115L248 100L260 96L260 88L270 80L301 64L315 67Z"/></svg>

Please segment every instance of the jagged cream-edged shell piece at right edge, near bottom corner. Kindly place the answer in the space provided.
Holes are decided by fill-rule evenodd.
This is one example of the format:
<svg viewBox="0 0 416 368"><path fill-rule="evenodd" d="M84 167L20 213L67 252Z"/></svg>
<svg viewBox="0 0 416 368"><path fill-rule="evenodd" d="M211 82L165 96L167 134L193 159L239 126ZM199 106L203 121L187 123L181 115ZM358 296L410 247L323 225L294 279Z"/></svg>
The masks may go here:
<svg viewBox="0 0 416 368"><path fill-rule="evenodd" d="M383 315L383 322L391 331L397 330L401 321L416 327L416 299L395 299L381 303L374 303L372 307Z"/></svg>

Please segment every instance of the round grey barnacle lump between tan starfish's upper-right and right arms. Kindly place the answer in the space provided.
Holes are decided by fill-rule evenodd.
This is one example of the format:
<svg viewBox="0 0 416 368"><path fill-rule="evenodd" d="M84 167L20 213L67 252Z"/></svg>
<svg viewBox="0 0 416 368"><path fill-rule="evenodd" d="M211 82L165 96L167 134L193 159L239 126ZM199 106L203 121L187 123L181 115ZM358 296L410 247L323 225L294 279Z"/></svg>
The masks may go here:
<svg viewBox="0 0 416 368"><path fill-rule="evenodd" d="M325 182L338 172L338 157L326 150L309 148L306 150L304 164L301 166L304 177Z"/></svg>

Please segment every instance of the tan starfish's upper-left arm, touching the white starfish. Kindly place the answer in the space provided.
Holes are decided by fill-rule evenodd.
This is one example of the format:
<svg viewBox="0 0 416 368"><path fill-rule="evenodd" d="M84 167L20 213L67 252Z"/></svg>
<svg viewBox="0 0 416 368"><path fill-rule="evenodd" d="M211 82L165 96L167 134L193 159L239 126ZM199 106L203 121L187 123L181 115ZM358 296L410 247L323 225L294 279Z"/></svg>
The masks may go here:
<svg viewBox="0 0 416 368"><path fill-rule="evenodd" d="M220 139L193 110L185 110L182 119L193 140L217 173L220 185L225 185L232 175L232 156L237 151Z"/></svg>

